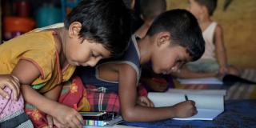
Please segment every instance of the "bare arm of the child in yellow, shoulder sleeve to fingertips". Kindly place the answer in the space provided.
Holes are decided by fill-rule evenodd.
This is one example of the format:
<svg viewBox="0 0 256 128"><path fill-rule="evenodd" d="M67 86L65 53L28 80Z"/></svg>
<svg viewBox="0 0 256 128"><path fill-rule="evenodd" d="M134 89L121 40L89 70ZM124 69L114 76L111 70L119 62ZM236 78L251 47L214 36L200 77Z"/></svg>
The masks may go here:
<svg viewBox="0 0 256 128"><path fill-rule="evenodd" d="M30 83L35 78L38 78L40 74L38 68L32 62L20 60L12 74L20 80L23 98L26 102L35 106L38 110L57 118L63 125L71 127L82 126L82 116L76 110L46 98L31 88Z"/></svg>

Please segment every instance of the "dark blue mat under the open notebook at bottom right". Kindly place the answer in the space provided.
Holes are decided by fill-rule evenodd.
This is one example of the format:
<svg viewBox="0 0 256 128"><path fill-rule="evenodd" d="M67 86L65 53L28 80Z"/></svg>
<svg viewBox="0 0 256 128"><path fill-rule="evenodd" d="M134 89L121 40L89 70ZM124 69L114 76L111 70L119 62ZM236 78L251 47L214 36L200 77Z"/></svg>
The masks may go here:
<svg viewBox="0 0 256 128"><path fill-rule="evenodd" d="M122 125L147 128L254 128L256 126L256 100L230 100L225 110L213 121L166 119L159 122L124 122Z"/></svg>

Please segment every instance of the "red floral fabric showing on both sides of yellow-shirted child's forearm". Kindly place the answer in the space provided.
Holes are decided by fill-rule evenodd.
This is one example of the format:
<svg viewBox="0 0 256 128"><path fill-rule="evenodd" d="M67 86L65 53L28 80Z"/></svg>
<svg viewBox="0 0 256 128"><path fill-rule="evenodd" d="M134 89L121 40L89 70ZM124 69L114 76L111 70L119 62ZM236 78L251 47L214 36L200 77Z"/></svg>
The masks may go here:
<svg viewBox="0 0 256 128"><path fill-rule="evenodd" d="M63 83L62 94L58 99L58 102L74 107L77 106L77 110L89 111L90 105L86 99L86 89L82 85L80 78L73 78L72 81ZM34 106L26 103L26 114L30 116L35 127L47 126L46 114L37 110Z"/></svg>

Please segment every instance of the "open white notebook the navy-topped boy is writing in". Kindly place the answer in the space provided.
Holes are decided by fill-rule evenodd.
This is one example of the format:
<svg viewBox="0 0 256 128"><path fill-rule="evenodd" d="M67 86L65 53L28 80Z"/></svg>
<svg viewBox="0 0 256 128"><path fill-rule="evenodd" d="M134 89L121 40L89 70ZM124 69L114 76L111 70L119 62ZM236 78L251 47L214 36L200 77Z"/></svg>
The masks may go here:
<svg viewBox="0 0 256 128"><path fill-rule="evenodd" d="M178 120L213 120L224 111L224 95L226 90L168 90L165 93L149 93L148 97L154 106L173 106L185 101L185 94L189 100L196 103L198 114L190 118L174 118Z"/></svg>

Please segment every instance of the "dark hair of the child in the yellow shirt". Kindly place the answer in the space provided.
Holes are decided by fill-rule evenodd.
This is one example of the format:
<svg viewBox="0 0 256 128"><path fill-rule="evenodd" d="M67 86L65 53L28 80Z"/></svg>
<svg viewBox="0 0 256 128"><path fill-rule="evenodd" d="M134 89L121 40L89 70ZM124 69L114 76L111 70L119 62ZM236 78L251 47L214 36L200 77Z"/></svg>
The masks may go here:
<svg viewBox="0 0 256 128"><path fill-rule="evenodd" d="M67 15L65 27L81 22L79 37L102 43L113 57L126 50L130 39L130 10L122 0L83 0Z"/></svg>

